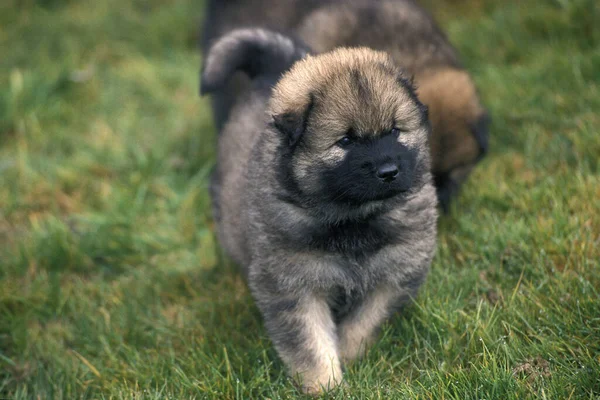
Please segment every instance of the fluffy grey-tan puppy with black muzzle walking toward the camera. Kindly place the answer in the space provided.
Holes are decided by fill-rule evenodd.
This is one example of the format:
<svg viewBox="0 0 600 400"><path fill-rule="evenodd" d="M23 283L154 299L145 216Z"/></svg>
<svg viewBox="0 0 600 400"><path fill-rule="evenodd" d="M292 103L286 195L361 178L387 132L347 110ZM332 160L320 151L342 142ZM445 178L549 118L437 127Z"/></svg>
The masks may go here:
<svg viewBox="0 0 600 400"><path fill-rule="evenodd" d="M416 294L437 199L427 111L407 75L367 48L306 52L271 31L234 30L208 51L202 91L234 71L251 79L218 138L218 236L279 356L315 394Z"/></svg>

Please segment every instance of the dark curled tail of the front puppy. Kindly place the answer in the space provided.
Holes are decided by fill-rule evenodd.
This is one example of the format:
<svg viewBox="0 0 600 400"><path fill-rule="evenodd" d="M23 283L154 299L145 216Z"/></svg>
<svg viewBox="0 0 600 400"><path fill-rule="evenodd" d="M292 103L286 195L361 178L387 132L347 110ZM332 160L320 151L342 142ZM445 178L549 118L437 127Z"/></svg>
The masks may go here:
<svg viewBox="0 0 600 400"><path fill-rule="evenodd" d="M200 94L223 88L236 71L243 71L251 79L277 79L307 53L302 44L267 29L231 31L217 39L206 55Z"/></svg>

